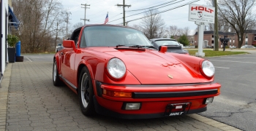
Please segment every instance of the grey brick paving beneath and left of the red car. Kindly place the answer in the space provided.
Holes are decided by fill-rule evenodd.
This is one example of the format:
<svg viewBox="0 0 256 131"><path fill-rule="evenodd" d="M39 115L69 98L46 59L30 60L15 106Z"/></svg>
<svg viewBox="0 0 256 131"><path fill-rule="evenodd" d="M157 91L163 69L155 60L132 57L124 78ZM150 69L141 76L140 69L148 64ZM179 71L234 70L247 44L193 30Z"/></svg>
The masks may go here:
<svg viewBox="0 0 256 131"><path fill-rule="evenodd" d="M54 87L51 62L10 63L0 87L1 130L232 130L197 114L160 119L116 119L80 112L78 96L68 87Z"/></svg>

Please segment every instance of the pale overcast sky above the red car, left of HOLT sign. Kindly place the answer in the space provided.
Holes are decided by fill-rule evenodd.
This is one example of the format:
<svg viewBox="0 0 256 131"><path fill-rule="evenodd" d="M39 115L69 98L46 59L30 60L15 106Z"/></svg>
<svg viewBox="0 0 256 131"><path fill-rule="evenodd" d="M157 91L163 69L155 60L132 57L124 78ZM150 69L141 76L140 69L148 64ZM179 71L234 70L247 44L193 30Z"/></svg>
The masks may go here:
<svg viewBox="0 0 256 131"><path fill-rule="evenodd" d="M94 24L94 23L104 23L105 17L108 13L108 19L109 24L120 24L123 23L123 8L117 7L116 4L123 4L122 0L59 0L63 4L65 9L68 9L69 12L71 12L70 16L70 23L74 25L75 23L83 23L83 20L80 20L81 18L84 18L84 6L81 6L81 4L89 4L90 9L86 9L86 19L89 19L90 21L86 21L86 24ZM172 1L172 2L171 2ZM128 23L128 25L139 25L140 20L135 20L137 18L143 17L144 14L141 12L145 12L146 10L139 10L139 11L131 11L129 10L136 10L136 9L145 9L148 7L154 7L158 6L159 4L164 4L170 2L166 7L161 7L158 9L159 12L165 11L167 9L171 9L167 12L162 12L160 15L162 19L165 21L165 25L176 25L178 28L184 28L189 27L190 30L195 30L197 28L197 25L195 25L195 22L189 21L189 5L187 3L196 1L196 0L126 0L125 4L131 5L131 7L126 7L126 16L133 15L130 17L126 17L126 21L134 20ZM206 5L206 1L208 0L198 0L194 2L193 4L200 4L200 5ZM184 7L179 7L181 5L187 4ZM178 8L176 8L178 7ZM157 7L155 7L157 8ZM176 8L176 9L173 9ZM141 13L141 14L138 14ZM138 15L135 15L138 14ZM117 20L121 18L120 20ZM116 21L113 21L116 20ZM113 21L113 22L111 22Z"/></svg>

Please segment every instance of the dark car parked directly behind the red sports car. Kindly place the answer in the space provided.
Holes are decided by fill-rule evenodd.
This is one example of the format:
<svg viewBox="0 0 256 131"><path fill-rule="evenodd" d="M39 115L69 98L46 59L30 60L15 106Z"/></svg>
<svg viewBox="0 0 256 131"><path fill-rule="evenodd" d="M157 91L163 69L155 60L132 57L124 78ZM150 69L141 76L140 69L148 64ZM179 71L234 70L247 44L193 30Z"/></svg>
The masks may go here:
<svg viewBox="0 0 256 131"><path fill-rule="evenodd" d="M150 39L153 46L160 49L161 46L167 46L167 52L174 52L179 54L189 55L187 49L183 49L183 44L179 44L175 39Z"/></svg>

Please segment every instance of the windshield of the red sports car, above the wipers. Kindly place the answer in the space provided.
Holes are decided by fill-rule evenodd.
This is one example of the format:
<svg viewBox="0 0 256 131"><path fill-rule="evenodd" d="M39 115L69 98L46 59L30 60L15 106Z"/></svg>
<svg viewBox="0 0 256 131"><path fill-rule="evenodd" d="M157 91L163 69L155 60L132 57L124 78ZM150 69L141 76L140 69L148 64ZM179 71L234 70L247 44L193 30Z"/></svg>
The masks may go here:
<svg viewBox="0 0 256 131"><path fill-rule="evenodd" d="M83 30L80 47L116 47L117 45L151 46L146 36L140 31L131 28L115 26L89 26Z"/></svg>

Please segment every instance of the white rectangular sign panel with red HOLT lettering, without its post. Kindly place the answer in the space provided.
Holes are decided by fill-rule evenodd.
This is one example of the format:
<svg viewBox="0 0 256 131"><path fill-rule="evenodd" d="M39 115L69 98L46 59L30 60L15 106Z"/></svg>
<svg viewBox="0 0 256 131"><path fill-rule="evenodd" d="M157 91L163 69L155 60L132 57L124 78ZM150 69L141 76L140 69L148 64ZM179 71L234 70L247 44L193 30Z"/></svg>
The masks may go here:
<svg viewBox="0 0 256 131"><path fill-rule="evenodd" d="M189 21L201 23L214 23L214 7L197 4L189 4Z"/></svg>

